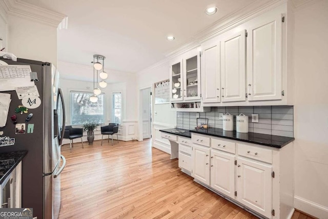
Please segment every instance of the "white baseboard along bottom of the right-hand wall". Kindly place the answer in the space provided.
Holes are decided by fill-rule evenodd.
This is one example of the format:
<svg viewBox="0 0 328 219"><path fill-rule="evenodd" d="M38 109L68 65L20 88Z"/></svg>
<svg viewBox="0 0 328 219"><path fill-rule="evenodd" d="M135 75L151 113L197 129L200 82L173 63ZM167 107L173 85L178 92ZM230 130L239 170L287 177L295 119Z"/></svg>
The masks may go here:
<svg viewBox="0 0 328 219"><path fill-rule="evenodd" d="M327 218L328 215L328 207L296 195L294 196L294 207L297 210L303 211L318 218Z"/></svg>

